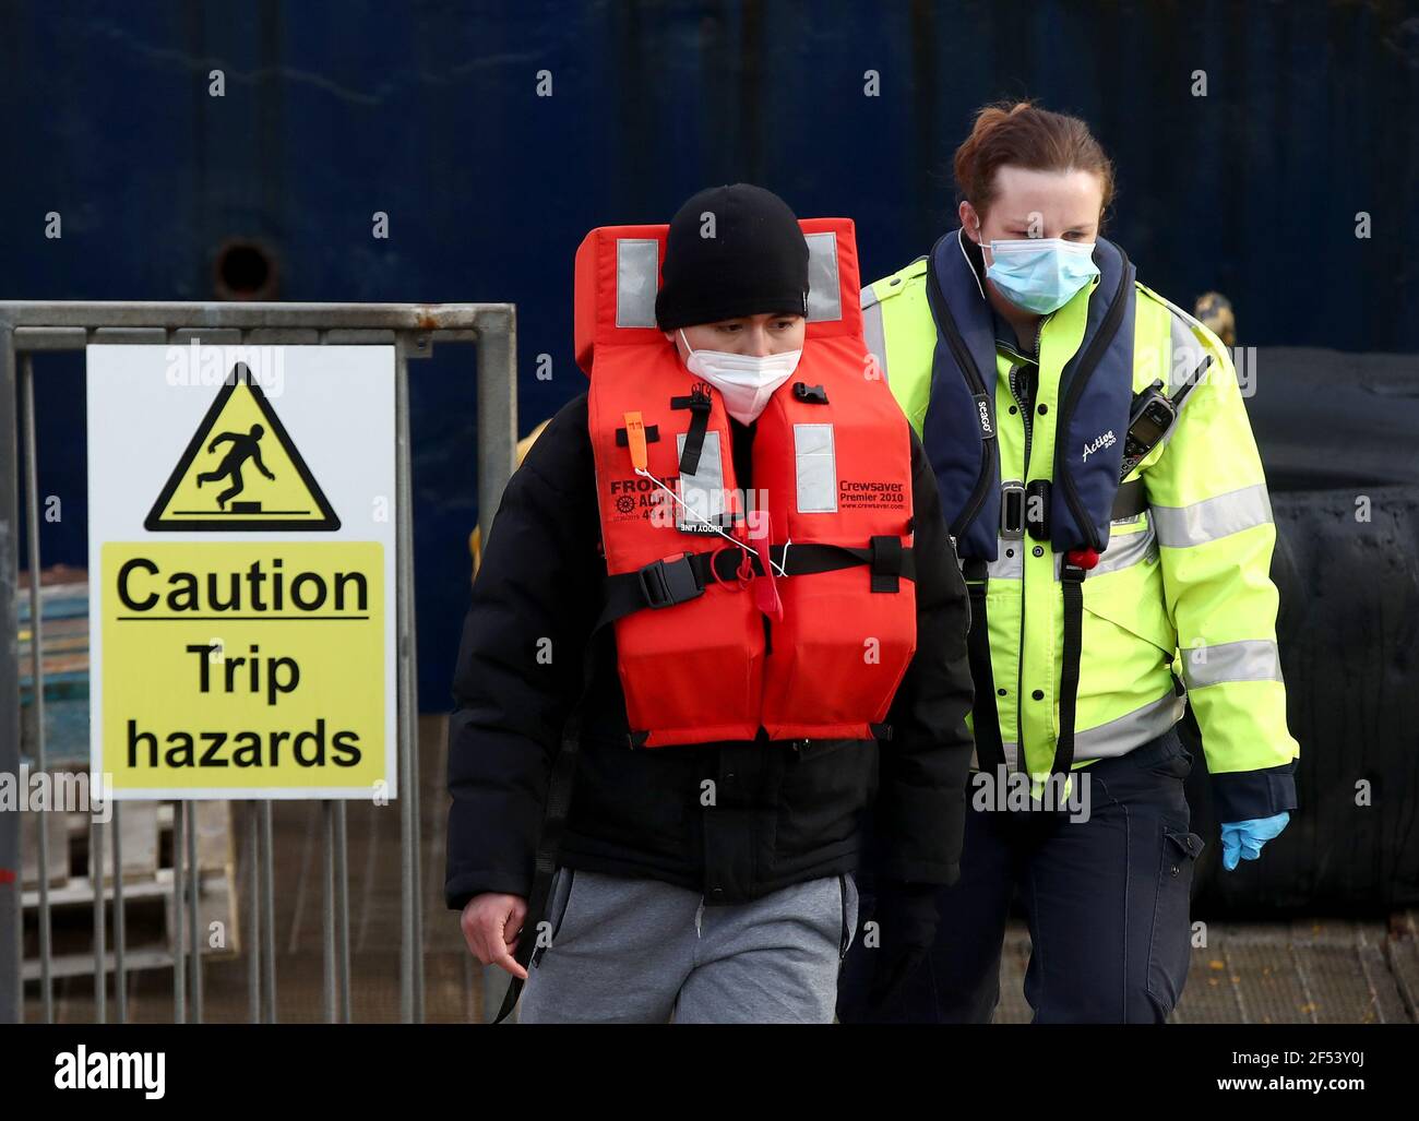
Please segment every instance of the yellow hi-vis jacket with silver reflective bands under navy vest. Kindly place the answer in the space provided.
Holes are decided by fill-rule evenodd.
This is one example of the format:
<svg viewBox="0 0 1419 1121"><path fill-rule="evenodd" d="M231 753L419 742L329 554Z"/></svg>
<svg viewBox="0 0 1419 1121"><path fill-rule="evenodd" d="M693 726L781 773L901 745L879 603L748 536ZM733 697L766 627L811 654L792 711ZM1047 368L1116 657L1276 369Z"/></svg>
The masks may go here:
<svg viewBox="0 0 1419 1121"><path fill-rule="evenodd" d="M937 345L927 264L912 261L861 294L868 349L918 436ZM1002 480L1053 475L1060 372L1084 335L1097 285L1095 278L1040 324L1029 473L1010 375L1036 356L1020 352L1012 331L1005 331L1007 339L998 331ZM1083 582L1074 765L1124 755L1164 734L1191 698L1219 820L1269 817L1296 806L1300 748L1286 727L1270 579L1276 526L1261 460L1226 348L1193 316L1142 284L1137 288L1134 392L1161 380L1172 397L1202 355L1212 356L1212 366L1182 399L1164 440L1125 480L1142 478L1147 511L1111 524L1108 548ZM1049 542L999 542L986 616L1006 761L1017 768L1023 744L1025 768L1049 772L1064 641L1059 556ZM1054 704L1033 702L1037 692Z"/></svg>

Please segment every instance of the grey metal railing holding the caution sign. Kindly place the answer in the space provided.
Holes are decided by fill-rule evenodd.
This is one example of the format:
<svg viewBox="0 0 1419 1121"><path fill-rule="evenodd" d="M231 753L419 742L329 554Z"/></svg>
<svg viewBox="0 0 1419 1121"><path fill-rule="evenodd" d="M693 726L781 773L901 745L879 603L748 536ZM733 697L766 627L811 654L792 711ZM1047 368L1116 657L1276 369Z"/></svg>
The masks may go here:
<svg viewBox="0 0 1419 1121"><path fill-rule="evenodd" d="M21 762L18 666L18 436L24 433L26 566L30 573L31 678L35 705L34 761L45 768L43 613L40 602L40 491L35 448L34 362L37 352L82 350L89 343L204 345L393 345L394 474L397 487L396 650L397 758L400 783L400 1016L423 1020L423 870L419 844L417 667L414 660L413 491L410 482L409 360L427 358L434 339L477 348L478 519L487 541L498 498L517 454L517 318L511 304L240 304L240 302L3 302L0 301L0 775L18 779ZM94 595L91 585L89 595ZM274 1022L277 1009L274 851L271 802L250 803L245 814L248 929L248 1016ZM322 803L324 867L324 1006L329 1022L350 1016L349 891L345 803ZM123 1022L125 907L121 803L112 803L114 966L116 1019ZM38 836L40 985L44 1017L54 1017L51 917L48 898L48 829ZM89 826L89 878L94 884L95 1017L108 1019L104 849L101 826ZM0 1023L24 1016L23 863L20 810L0 807ZM184 868L186 866L186 868ZM199 929L196 813L177 802L173 816L173 1019L200 1022L203 968ZM186 917L186 932L183 918ZM184 937L186 934L186 937ZM189 945L184 945L187 942ZM190 948L189 948L190 946ZM487 998L485 998L487 999Z"/></svg>

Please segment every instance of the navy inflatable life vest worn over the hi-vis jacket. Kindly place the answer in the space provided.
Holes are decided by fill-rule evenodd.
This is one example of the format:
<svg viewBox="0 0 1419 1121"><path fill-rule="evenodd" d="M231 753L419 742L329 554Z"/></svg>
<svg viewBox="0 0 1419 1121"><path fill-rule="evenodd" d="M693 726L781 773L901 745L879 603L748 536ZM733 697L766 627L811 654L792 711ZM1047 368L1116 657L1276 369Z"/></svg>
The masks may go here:
<svg viewBox="0 0 1419 1121"><path fill-rule="evenodd" d="M1049 504L1050 543L1059 553L1103 552L1108 545L1132 402L1135 270L1124 251L1103 237L1094 264L1101 277L1088 301L1084 338L1060 375ZM927 292L937 349L922 444L956 552L995 560L1000 526L995 328L990 305L981 298L975 270L966 261L961 230L932 247Z"/></svg>

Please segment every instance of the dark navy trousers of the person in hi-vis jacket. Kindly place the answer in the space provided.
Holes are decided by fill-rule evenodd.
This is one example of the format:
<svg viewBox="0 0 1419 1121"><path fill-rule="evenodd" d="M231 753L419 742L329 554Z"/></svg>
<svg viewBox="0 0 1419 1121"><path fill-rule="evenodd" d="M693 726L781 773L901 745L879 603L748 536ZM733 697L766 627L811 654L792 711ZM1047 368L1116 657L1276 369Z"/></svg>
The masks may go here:
<svg viewBox="0 0 1419 1121"><path fill-rule="evenodd" d="M1182 792L1191 769L1192 755L1169 731L1076 772L1088 775L1084 822L1067 812L972 805L961 880L939 894L931 954L895 999L873 1007L877 951L860 929L839 982L839 1019L989 1023L1017 897L1033 944L1025 998L1036 1023L1164 1022L1188 978L1188 897L1202 851ZM972 803L973 792L972 785ZM873 900L870 884L861 887L864 927Z"/></svg>

